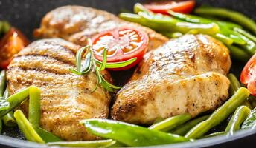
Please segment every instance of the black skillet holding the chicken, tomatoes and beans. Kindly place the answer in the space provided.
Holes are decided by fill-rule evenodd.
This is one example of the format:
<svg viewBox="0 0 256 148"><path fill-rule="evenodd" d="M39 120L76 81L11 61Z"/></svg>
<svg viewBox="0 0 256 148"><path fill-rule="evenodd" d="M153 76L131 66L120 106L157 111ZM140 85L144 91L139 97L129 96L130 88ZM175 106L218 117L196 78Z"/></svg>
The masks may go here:
<svg viewBox="0 0 256 148"><path fill-rule="evenodd" d="M42 16L56 7L68 4L77 4L86 7L95 7L118 14L120 10L132 10L136 0L0 0L0 20L10 21L15 27L22 30L31 41L34 40L32 31L39 27ZM256 0L198 0L198 4L208 4L216 7L226 7L251 16L256 20ZM243 64L233 61L231 72L239 75ZM126 73L126 75L124 75ZM128 73L128 74L127 74ZM129 78L131 70L123 73L112 73L117 84L124 84L121 79ZM3 127L0 135L0 147L47 147L46 145L24 141L24 137L17 128ZM223 129L223 127L217 127ZM156 147L156 146L154 146ZM160 146L159 146L160 147ZM169 144L161 147L256 147L256 130L239 131L234 136L218 136L205 138L193 143Z"/></svg>

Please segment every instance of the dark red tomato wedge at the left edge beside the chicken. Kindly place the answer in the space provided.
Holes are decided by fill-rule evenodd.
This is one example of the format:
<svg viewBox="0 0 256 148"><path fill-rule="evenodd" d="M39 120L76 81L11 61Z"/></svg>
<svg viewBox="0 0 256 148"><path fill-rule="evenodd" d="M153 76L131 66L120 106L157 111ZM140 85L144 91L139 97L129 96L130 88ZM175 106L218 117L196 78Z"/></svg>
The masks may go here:
<svg viewBox="0 0 256 148"><path fill-rule="evenodd" d="M15 28L11 28L0 41L0 67L6 69L22 48L28 45L28 39Z"/></svg>

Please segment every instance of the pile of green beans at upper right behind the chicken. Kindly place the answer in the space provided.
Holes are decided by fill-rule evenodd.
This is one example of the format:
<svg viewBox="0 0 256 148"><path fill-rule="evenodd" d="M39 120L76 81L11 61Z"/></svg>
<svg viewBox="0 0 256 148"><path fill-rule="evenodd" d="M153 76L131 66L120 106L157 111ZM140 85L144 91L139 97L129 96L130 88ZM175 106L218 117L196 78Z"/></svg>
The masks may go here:
<svg viewBox="0 0 256 148"><path fill-rule="evenodd" d="M200 16L175 13L171 10L168 11L170 16L166 16L150 12L142 4L135 4L135 14L120 13L119 17L150 27L169 38L176 38L185 33L208 34L222 41L230 50L231 58L239 61L246 62L256 53L256 24L252 19L241 13L216 7L199 7L194 12ZM213 17L229 19L237 24ZM242 26L253 35L243 30Z"/></svg>

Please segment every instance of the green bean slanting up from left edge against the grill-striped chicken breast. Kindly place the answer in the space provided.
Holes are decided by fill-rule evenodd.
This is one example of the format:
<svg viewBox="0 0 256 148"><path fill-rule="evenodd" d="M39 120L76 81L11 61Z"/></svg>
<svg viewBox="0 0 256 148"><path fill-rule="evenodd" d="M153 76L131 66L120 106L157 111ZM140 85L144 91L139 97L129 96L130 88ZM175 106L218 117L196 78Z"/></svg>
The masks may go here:
<svg viewBox="0 0 256 148"><path fill-rule="evenodd" d="M27 87L25 90L17 92L14 95L10 95L9 98L0 102L0 118L13 110L15 107L18 107L22 101L25 101L25 99L28 98L29 89L30 87Z"/></svg>

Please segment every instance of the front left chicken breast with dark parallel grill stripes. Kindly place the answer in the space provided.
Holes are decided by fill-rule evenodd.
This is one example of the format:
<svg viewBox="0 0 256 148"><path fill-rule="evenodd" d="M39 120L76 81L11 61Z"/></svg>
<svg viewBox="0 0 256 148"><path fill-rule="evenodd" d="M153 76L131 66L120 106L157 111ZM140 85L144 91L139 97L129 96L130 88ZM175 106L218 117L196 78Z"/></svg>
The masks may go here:
<svg viewBox="0 0 256 148"><path fill-rule="evenodd" d="M109 93L98 87L96 75L75 75L75 54L80 47L63 39L44 39L25 47L7 70L10 94L31 85L42 90L41 126L68 141L93 140L79 121L108 118ZM28 104L22 106L28 112Z"/></svg>

